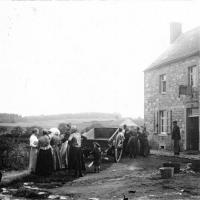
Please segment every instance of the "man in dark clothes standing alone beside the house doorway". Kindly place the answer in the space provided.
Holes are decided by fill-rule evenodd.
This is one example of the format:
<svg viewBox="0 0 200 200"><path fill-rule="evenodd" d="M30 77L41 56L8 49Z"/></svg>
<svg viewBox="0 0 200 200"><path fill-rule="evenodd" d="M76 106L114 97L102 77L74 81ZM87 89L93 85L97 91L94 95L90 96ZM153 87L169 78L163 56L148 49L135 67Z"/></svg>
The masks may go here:
<svg viewBox="0 0 200 200"><path fill-rule="evenodd" d="M174 140L174 155L179 155L180 153L180 139L180 128L177 125L177 121L173 121L172 140Z"/></svg>

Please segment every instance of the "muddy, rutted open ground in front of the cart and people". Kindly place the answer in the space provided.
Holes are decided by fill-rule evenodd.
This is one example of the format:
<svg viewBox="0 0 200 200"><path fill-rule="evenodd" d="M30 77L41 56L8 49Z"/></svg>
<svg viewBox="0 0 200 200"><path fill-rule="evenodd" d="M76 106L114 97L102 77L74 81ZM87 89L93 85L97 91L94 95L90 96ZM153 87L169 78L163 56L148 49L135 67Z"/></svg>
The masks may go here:
<svg viewBox="0 0 200 200"><path fill-rule="evenodd" d="M162 179L159 167L168 161L170 158L155 156L124 158L120 163L106 161L102 164L100 173L93 173L93 168L87 168L87 174L78 179L74 179L66 171L57 172L46 179L29 176L8 188L15 190L24 187L24 182L31 182L34 187L48 192L48 195L58 195L50 196L57 199L117 200L123 199L123 195L128 199L145 200L200 199L200 173L182 171L173 178ZM182 169L185 166L186 163L181 164ZM44 198L48 199L48 195Z"/></svg>

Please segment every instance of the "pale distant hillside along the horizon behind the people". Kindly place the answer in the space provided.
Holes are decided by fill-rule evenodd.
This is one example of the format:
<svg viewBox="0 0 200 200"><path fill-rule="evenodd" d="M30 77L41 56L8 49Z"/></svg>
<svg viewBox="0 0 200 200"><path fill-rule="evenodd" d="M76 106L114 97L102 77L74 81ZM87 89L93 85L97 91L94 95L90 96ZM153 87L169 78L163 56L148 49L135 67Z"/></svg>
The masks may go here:
<svg viewBox="0 0 200 200"><path fill-rule="evenodd" d="M12 115L12 114L9 114ZM86 127L117 127L124 121L124 118L121 117L118 113L77 113L77 114L58 114L58 115L40 115L40 116L26 116L18 118L15 114L15 120L10 121L5 118L1 121L0 114L0 126L13 127L32 127L39 126L42 128L51 128L58 127L60 123L71 123L76 124L79 129L84 129ZM8 114L6 114L8 116ZM18 116L18 115L17 115ZM7 120L5 120L7 119ZM139 126L143 125L143 119L137 118L133 120Z"/></svg>

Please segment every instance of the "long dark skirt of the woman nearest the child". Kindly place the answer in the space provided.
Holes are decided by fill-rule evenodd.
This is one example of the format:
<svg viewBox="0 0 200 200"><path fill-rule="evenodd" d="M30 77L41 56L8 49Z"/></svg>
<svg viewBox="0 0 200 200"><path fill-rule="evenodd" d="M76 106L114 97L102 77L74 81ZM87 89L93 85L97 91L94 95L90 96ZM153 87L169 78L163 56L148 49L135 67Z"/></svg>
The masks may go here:
<svg viewBox="0 0 200 200"><path fill-rule="evenodd" d="M80 147L69 147L68 157L68 168L69 170L75 170L81 172L85 170L85 162L83 159L83 153Z"/></svg>

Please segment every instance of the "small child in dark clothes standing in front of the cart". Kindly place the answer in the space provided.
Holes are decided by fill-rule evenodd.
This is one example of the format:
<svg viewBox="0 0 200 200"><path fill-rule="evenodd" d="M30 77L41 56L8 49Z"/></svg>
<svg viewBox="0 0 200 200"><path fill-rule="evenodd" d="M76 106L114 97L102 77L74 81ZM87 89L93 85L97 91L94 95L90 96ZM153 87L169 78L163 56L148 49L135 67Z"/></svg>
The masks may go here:
<svg viewBox="0 0 200 200"><path fill-rule="evenodd" d="M98 172L100 171L100 166L101 166L101 147L98 143L94 142L94 149L93 149L93 156L94 156L94 160L93 160L93 165L94 165L94 172Z"/></svg>

